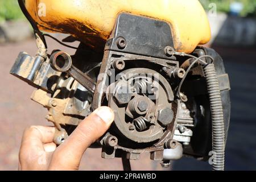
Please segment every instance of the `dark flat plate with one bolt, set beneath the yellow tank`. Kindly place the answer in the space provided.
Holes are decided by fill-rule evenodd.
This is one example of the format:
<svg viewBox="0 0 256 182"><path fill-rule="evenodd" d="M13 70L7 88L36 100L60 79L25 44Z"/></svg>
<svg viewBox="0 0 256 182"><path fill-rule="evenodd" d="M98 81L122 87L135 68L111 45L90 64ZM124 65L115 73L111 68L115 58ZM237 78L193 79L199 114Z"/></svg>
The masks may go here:
<svg viewBox="0 0 256 182"><path fill-rule="evenodd" d="M164 53L174 47L170 24L162 20L122 13L105 50L171 59Z"/></svg>

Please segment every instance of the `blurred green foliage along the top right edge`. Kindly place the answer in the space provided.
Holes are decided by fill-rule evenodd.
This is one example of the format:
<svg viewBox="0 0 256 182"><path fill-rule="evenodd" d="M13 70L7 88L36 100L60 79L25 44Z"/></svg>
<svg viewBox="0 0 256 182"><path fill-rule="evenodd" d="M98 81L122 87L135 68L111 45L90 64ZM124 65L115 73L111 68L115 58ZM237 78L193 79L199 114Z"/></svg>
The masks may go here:
<svg viewBox="0 0 256 182"><path fill-rule="evenodd" d="M204 6L205 10L209 10L210 3L216 3L217 11L229 13L229 6L232 2L243 3L243 10L241 16L254 16L256 17L256 0L199 0Z"/></svg>

